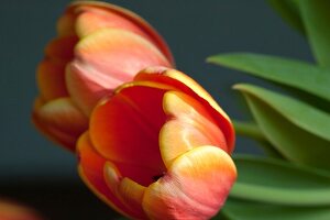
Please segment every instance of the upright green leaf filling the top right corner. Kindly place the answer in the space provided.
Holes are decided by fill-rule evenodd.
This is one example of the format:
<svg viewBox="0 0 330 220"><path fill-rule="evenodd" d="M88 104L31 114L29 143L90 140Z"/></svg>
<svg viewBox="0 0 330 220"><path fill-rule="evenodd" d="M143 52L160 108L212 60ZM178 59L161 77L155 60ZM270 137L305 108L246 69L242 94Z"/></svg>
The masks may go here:
<svg viewBox="0 0 330 220"><path fill-rule="evenodd" d="M297 1L308 41L320 66L330 67L330 1Z"/></svg>

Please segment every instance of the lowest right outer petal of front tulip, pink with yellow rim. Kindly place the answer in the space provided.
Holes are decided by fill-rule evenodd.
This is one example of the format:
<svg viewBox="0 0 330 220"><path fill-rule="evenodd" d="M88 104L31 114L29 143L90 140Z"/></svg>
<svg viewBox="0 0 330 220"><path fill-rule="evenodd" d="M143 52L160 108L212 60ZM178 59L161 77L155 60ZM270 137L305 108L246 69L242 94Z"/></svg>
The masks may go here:
<svg viewBox="0 0 330 220"><path fill-rule="evenodd" d="M174 161L168 173L144 194L151 219L210 219L223 205L237 170L219 147L200 146Z"/></svg>

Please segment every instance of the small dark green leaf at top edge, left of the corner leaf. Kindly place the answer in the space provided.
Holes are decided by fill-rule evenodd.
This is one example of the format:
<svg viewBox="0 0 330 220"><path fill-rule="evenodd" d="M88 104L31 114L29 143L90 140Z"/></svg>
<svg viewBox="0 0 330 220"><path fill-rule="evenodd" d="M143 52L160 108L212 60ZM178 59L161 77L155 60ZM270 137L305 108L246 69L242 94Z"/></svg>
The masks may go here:
<svg viewBox="0 0 330 220"><path fill-rule="evenodd" d="M268 0L268 3L287 23L305 35L305 28L299 14L299 8L294 0Z"/></svg>

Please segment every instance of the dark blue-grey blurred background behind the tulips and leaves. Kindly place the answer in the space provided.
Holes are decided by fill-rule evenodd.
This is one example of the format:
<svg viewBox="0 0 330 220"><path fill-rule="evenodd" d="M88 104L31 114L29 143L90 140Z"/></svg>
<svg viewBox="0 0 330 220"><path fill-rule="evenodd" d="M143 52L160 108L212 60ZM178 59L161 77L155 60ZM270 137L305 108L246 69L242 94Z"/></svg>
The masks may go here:
<svg viewBox="0 0 330 220"><path fill-rule="evenodd" d="M256 81L206 64L209 55L255 52L310 61L304 37L264 0L108 1L147 20L167 41L177 68L194 77L231 118L249 118L231 86ZM37 95L35 68L68 0L3 1L0 8L0 197L13 198L46 219L111 219L114 213L80 182L76 158L43 138L30 120ZM238 139L238 152L257 152Z"/></svg>

